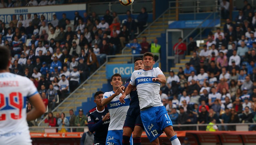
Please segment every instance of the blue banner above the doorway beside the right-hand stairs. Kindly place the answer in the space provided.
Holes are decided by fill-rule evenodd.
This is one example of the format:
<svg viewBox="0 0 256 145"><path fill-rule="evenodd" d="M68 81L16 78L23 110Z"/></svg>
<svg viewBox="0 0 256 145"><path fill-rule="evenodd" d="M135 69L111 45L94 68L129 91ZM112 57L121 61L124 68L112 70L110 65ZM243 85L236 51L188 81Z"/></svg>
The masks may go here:
<svg viewBox="0 0 256 145"><path fill-rule="evenodd" d="M183 21L169 21L168 28L169 29L177 29L177 28L196 28L199 26L203 20L183 20ZM209 19L205 20L201 25L202 28L205 27L214 27L220 26L220 19Z"/></svg>

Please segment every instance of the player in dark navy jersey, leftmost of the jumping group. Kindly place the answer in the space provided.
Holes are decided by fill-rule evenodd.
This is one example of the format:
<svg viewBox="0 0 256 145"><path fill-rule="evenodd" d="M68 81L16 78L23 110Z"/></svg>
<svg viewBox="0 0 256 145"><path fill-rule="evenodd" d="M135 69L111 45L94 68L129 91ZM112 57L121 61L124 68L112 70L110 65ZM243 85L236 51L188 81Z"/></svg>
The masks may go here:
<svg viewBox="0 0 256 145"><path fill-rule="evenodd" d="M110 123L110 115L108 108L102 105L101 100L104 92L98 91L94 94L94 103L96 107L88 112L88 128L94 134L94 144L105 145Z"/></svg>

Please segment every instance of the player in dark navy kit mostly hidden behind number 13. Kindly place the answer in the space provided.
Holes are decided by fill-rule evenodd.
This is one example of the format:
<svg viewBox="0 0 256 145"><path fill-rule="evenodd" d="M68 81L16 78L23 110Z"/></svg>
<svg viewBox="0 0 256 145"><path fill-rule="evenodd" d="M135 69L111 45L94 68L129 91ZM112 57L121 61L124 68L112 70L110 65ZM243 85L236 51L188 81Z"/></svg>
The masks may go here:
<svg viewBox="0 0 256 145"><path fill-rule="evenodd" d="M134 60L134 70L141 70L144 68L142 58L136 58ZM131 81L131 77L125 80L125 85L120 87L121 89L125 89ZM125 123L123 125L123 145L130 144L131 134L133 133L133 143L134 145L141 144L141 134L143 131L143 125L141 122L141 113L139 106L139 98L137 91L134 90L130 93L131 101L130 107L127 111Z"/></svg>

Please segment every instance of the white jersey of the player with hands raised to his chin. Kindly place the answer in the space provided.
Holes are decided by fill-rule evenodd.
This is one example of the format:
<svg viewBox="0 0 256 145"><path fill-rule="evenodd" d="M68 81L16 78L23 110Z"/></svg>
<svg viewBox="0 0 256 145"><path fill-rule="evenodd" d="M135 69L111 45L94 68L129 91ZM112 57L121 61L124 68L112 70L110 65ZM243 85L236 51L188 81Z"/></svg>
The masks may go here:
<svg viewBox="0 0 256 145"><path fill-rule="evenodd" d="M105 92L103 94L102 100L112 96L114 93L115 92L113 91ZM124 99L125 103L121 103L119 101L119 97L121 96L122 94L115 96L115 98L113 98L113 100L111 100L111 102L108 103L108 111L110 114L110 123L108 130L123 130L123 125L127 114L127 110L129 109L131 97L130 95L127 95Z"/></svg>

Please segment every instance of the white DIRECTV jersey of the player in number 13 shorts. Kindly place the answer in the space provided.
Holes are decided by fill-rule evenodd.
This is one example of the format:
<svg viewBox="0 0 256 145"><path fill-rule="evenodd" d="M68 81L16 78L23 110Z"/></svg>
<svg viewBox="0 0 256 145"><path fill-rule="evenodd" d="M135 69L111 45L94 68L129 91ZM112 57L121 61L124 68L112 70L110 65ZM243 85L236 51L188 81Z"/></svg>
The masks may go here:
<svg viewBox="0 0 256 145"><path fill-rule="evenodd" d="M159 74L163 74L159 67L149 71L137 70L131 76L130 84L137 88L140 109L153 106L163 106L160 98L160 82L153 82L152 78L156 78Z"/></svg>

